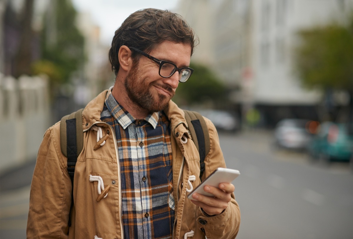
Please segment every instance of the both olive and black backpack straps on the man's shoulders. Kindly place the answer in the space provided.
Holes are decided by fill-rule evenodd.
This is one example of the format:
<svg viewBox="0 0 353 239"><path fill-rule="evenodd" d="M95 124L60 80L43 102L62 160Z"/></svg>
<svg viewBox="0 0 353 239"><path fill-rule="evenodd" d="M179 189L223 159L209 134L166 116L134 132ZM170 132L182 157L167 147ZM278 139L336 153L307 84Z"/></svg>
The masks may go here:
<svg viewBox="0 0 353 239"><path fill-rule="evenodd" d="M82 111L80 109L70 115L61 118L60 121L60 145L62 154L67 157L67 171L71 178L71 206L68 226L71 226L71 213L73 207L73 177L78 155L83 149ZM192 141L200 155L200 180L205 171L205 157L210 151L210 135L207 125L201 114L195 111L184 110L185 119Z"/></svg>

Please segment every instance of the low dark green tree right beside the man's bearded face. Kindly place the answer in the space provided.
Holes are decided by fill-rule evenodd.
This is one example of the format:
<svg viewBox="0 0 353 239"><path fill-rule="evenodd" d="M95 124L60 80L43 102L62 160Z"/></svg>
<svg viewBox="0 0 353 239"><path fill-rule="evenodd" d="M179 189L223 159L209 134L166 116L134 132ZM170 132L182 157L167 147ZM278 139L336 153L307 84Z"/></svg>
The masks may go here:
<svg viewBox="0 0 353 239"><path fill-rule="evenodd" d="M179 83L173 101L191 105L209 101L217 104L227 100L226 87L208 67L191 63L190 68L194 69L193 74L187 82Z"/></svg>

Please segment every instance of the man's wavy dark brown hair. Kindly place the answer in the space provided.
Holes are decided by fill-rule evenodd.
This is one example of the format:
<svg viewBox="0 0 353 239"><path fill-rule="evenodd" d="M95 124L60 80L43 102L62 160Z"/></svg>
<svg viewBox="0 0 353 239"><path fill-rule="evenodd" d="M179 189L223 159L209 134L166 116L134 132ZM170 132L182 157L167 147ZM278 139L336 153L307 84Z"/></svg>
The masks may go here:
<svg viewBox="0 0 353 239"><path fill-rule="evenodd" d="M121 24L109 50L109 62L115 76L119 71L118 52L122 45L136 47L149 53L163 41L190 44L191 55L198 44L198 38L189 24L176 13L146 8L132 13ZM139 54L132 52L132 59L138 60Z"/></svg>

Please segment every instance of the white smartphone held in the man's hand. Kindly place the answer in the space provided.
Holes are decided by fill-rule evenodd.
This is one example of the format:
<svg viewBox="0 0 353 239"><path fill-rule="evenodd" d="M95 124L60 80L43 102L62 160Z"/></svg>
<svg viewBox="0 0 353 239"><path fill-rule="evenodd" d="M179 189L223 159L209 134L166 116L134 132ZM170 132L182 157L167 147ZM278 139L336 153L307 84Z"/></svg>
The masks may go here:
<svg viewBox="0 0 353 239"><path fill-rule="evenodd" d="M209 186L214 186L218 188L218 185L220 183L231 183L239 175L240 175L240 172L235 169L217 168L205 180L203 180L201 184L199 184L195 189L193 189L189 193L189 195L187 195L187 198L195 200L192 198L192 194L194 194L195 192L205 196L213 196L213 194L210 194L209 192L205 192L203 190L204 186L209 185Z"/></svg>

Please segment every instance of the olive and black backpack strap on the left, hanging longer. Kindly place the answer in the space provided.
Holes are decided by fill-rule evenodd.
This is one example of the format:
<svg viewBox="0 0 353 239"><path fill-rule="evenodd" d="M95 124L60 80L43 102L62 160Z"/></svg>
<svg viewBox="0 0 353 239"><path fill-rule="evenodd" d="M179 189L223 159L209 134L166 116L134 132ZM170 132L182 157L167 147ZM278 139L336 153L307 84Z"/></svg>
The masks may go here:
<svg viewBox="0 0 353 239"><path fill-rule="evenodd" d="M83 149L82 111L80 109L71 115L66 115L60 121L60 145L62 154L67 157L67 171L71 179L71 206L68 218L68 226L71 226L71 214L73 207L73 177L77 157Z"/></svg>

